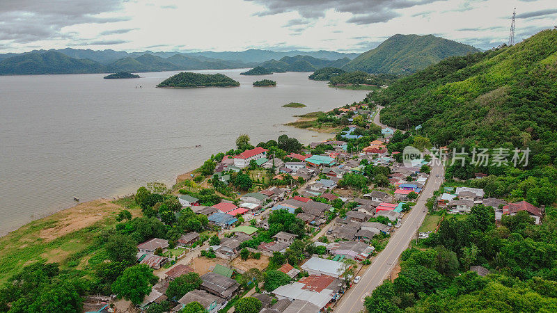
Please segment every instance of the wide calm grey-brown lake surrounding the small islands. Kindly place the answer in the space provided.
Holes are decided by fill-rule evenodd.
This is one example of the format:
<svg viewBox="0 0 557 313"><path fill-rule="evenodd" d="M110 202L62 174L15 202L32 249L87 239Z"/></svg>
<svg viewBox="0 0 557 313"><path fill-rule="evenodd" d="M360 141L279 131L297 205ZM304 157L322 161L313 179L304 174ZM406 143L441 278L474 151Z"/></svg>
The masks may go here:
<svg viewBox="0 0 557 313"><path fill-rule="evenodd" d="M242 76L236 88L155 88L176 72L0 77L0 234L81 201L134 192L147 182L171 186L211 154L281 134L302 143L333 135L283 124L292 115L327 111L365 97L328 88L308 72ZM253 87L268 78L276 87ZM138 88L135 88L135 87ZM139 88L141 86L141 88ZM306 108L283 108L301 102ZM317 135L316 137L314 137ZM195 147L201 145L201 147Z"/></svg>

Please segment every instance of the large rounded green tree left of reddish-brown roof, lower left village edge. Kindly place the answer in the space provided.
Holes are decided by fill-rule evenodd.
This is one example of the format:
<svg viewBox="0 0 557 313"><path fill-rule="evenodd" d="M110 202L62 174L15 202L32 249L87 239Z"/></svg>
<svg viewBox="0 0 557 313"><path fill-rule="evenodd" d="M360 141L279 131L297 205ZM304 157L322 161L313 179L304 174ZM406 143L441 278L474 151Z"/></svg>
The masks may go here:
<svg viewBox="0 0 557 313"><path fill-rule="evenodd" d="M152 269L145 264L126 268L116 282L112 284L112 291L118 298L125 298L134 304L139 304L150 294L152 283L159 278L152 275Z"/></svg>

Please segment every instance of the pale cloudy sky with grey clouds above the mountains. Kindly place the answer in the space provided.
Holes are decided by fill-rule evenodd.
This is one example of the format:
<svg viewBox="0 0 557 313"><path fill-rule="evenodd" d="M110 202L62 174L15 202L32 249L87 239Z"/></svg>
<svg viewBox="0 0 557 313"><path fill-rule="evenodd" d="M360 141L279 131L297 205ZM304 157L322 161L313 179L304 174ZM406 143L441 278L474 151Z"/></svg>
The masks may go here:
<svg viewBox="0 0 557 313"><path fill-rule="evenodd" d="M65 47L126 51L361 52L395 33L481 49L557 24L556 0L0 0L0 53Z"/></svg>

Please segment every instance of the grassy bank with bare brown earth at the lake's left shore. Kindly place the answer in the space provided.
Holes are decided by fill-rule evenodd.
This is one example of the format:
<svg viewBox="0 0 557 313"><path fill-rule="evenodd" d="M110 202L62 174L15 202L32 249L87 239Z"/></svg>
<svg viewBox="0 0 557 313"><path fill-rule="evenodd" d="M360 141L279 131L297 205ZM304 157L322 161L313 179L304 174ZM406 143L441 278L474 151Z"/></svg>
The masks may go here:
<svg viewBox="0 0 557 313"><path fill-rule="evenodd" d="M84 202L1 237L0 283L23 266L38 261L58 262L62 270L74 269L87 275L91 259L100 253L95 248L95 236L116 224L115 216L126 206L134 216L139 216L141 209L130 200Z"/></svg>

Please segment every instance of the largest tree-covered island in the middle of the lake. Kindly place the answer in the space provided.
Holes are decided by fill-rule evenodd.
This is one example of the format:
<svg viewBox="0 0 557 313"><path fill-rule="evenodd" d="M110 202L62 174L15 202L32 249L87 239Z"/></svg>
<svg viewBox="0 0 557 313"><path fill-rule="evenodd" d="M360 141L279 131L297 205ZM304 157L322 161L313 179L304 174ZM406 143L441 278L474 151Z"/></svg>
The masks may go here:
<svg viewBox="0 0 557 313"><path fill-rule="evenodd" d="M179 72L157 85L158 88L237 87L238 81L223 74Z"/></svg>

